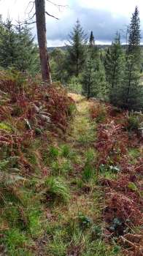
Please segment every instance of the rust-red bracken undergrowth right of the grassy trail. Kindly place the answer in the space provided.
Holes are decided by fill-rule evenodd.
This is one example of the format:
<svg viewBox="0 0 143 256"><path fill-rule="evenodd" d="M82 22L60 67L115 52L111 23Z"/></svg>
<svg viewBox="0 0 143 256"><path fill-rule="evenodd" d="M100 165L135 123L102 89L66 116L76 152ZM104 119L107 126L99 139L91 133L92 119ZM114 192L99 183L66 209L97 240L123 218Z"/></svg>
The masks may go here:
<svg viewBox="0 0 143 256"><path fill-rule="evenodd" d="M124 246L125 255L142 255L142 114L128 116L111 105L93 105L90 116L98 121L96 168L106 193L104 221L110 239Z"/></svg>

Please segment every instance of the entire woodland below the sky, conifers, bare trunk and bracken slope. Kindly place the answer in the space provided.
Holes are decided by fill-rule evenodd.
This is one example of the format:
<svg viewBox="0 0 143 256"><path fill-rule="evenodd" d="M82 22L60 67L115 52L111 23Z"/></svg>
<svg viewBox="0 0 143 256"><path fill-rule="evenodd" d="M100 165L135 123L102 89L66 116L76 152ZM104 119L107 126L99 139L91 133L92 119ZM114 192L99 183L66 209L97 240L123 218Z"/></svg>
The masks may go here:
<svg viewBox="0 0 143 256"><path fill-rule="evenodd" d="M56 17L34 8L37 44L31 20L0 21L0 255L142 256L138 7L127 44L98 47L77 19L52 50Z"/></svg>

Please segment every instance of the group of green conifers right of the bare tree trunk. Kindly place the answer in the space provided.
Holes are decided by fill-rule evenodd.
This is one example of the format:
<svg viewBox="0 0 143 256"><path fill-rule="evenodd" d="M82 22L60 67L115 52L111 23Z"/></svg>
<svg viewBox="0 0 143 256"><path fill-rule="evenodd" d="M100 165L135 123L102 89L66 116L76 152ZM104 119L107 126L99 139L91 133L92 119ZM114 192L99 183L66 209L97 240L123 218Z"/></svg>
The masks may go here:
<svg viewBox="0 0 143 256"><path fill-rule="evenodd" d="M123 48L120 34L107 50L96 47L93 31L87 38L80 21L69 34L66 50L50 53L53 80L80 89L88 99L105 99L120 108L143 109L143 86L140 83L142 51L139 10L136 7L128 29L128 45Z"/></svg>

